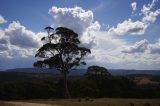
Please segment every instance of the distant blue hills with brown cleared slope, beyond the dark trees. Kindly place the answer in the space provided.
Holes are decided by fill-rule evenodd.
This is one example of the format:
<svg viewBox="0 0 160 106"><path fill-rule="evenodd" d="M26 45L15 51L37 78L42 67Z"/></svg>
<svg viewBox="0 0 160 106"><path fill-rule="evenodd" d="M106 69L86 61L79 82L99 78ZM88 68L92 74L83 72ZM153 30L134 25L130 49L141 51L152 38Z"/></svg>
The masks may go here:
<svg viewBox="0 0 160 106"><path fill-rule="evenodd" d="M81 78L86 72L86 69L76 69L70 71L70 78ZM125 76L132 79L138 85L145 84L160 84L160 70L124 70L110 69L109 72L113 76ZM37 68L16 68L8 69L0 72L0 82L3 81L32 81L60 78L60 72L56 69Z"/></svg>

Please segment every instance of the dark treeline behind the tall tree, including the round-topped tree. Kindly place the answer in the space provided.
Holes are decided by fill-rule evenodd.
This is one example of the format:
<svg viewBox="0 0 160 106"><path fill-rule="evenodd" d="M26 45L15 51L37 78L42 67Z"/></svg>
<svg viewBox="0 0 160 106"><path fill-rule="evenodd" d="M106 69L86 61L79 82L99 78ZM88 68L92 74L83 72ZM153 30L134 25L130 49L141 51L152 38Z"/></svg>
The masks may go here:
<svg viewBox="0 0 160 106"><path fill-rule="evenodd" d="M126 77L115 77L102 67L98 67L98 70L96 68L90 68L84 76L68 78L68 88L72 98L160 98L160 85L136 85ZM30 80L1 80L0 99L64 97L64 82L61 77L31 78Z"/></svg>

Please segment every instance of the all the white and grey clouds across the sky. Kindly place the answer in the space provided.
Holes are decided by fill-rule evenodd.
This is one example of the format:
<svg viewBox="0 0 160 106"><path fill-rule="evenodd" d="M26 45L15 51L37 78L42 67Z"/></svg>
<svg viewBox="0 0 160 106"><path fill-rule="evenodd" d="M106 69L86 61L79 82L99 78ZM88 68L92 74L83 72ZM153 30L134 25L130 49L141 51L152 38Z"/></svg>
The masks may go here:
<svg viewBox="0 0 160 106"><path fill-rule="evenodd" d="M92 54L87 57L90 65L97 64L109 68L139 68L148 69L153 66L160 68L160 39L150 43L149 39L136 41L133 44L115 35L144 35L150 24L159 16L160 10L154 10L156 0L143 5L142 18L134 20L132 17L118 23L108 30L101 30L101 24L94 19L91 10L82 7L60 8L53 6L49 14L53 17L54 27L64 26L79 34L83 46L91 49ZM137 12L137 3L132 3L132 11ZM40 38L44 32L35 33L28 30L20 22L14 21L5 29L0 29L0 60L7 61L30 59L41 44ZM32 63L31 63L32 64ZM139 65L141 64L141 65ZM113 67L112 67L113 66ZM152 66L152 67L151 67Z"/></svg>

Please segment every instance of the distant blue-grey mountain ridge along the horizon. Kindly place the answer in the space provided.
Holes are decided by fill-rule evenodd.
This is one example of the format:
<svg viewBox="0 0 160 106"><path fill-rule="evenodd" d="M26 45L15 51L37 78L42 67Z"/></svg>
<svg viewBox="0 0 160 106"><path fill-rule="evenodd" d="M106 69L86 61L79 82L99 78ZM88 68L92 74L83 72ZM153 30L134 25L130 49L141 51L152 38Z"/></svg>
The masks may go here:
<svg viewBox="0 0 160 106"><path fill-rule="evenodd" d="M24 73L49 73L54 75L60 74L60 72L57 71L56 69L39 70L37 68L16 68L16 69L8 69L5 71L6 72L24 72ZM86 69L76 69L76 70L71 70L69 75L71 76L83 75L85 72L86 72ZM160 75L160 70L109 69L109 72L115 76L128 76L128 75L134 75L134 74Z"/></svg>

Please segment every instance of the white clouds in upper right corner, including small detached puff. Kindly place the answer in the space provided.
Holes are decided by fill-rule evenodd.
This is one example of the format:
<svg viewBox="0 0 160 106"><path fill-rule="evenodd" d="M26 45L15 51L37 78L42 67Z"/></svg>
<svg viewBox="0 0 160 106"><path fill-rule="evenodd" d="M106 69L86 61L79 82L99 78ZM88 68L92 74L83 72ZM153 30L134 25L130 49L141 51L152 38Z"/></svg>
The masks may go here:
<svg viewBox="0 0 160 106"><path fill-rule="evenodd" d="M131 18L124 20L122 23L118 23L117 26L111 27L108 31L114 35L143 35L146 29L151 23L154 23L157 17L160 15L160 9L153 11L157 0L153 0L152 3L143 5L141 9L141 14L143 17L141 20L133 21ZM131 3L133 11L136 10L136 3Z"/></svg>

